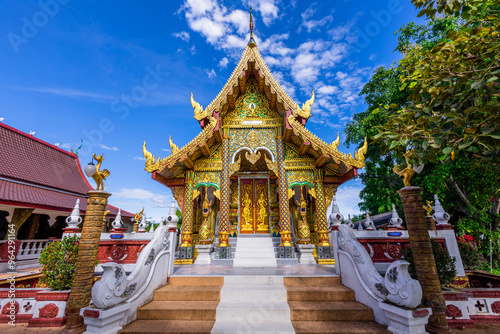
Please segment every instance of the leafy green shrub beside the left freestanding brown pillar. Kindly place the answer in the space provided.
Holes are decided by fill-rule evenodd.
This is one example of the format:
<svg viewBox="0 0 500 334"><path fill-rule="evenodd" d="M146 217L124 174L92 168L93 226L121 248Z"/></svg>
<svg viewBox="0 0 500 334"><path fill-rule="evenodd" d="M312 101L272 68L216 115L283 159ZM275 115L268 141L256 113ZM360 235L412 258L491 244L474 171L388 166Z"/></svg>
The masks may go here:
<svg viewBox="0 0 500 334"><path fill-rule="evenodd" d="M40 283L52 290L71 289L75 275L76 255L80 237L64 237L50 242L41 252L38 262L43 265Z"/></svg>

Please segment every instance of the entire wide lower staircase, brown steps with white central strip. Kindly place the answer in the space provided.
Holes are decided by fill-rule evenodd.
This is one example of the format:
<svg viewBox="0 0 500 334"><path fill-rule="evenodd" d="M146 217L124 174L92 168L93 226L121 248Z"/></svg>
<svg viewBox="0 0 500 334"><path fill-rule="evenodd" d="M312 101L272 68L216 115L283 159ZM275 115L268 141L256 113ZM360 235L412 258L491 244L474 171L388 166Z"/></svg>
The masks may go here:
<svg viewBox="0 0 500 334"><path fill-rule="evenodd" d="M119 333L390 333L339 277L169 278Z"/></svg>

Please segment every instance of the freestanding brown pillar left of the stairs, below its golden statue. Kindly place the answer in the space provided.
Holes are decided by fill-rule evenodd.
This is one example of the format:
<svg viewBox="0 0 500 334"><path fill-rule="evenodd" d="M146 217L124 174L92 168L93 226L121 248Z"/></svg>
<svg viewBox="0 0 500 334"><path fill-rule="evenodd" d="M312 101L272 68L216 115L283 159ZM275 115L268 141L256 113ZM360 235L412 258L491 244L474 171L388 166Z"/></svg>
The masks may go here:
<svg viewBox="0 0 500 334"><path fill-rule="evenodd" d="M82 333L85 329L80 309L90 303L104 210L108 204L108 197L111 196L107 192L98 190L91 190L87 194L89 196L87 212L80 236L75 277L68 300L68 320L63 333Z"/></svg>

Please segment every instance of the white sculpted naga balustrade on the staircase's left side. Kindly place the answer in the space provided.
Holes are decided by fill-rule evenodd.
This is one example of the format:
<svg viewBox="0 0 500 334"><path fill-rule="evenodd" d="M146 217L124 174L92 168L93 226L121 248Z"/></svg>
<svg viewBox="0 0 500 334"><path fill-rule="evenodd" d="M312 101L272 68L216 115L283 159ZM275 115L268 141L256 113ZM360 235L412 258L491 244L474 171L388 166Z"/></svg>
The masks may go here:
<svg viewBox="0 0 500 334"><path fill-rule="evenodd" d="M85 333L117 333L134 321L137 309L153 300L154 291L167 283L174 270L178 220L172 202L167 225L156 229L129 275L120 264L102 265L102 278L92 288L94 305L81 310Z"/></svg>

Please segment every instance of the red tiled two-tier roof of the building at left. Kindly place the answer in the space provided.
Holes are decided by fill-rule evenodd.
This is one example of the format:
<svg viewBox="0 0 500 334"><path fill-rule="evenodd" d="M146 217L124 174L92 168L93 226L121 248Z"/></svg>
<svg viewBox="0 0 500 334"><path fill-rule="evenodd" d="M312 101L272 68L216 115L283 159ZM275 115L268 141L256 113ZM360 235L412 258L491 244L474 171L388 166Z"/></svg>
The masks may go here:
<svg viewBox="0 0 500 334"><path fill-rule="evenodd" d="M77 155L0 123L0 204L71 212L80 198L85 211L91 189ZM133 214L122 210L122 217Z"/></svg>

